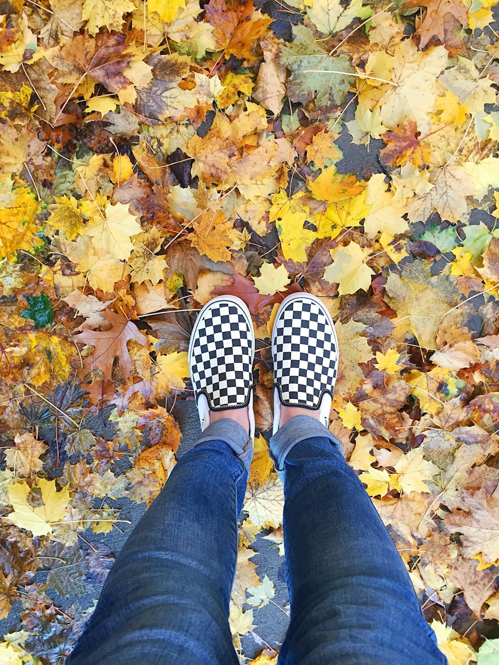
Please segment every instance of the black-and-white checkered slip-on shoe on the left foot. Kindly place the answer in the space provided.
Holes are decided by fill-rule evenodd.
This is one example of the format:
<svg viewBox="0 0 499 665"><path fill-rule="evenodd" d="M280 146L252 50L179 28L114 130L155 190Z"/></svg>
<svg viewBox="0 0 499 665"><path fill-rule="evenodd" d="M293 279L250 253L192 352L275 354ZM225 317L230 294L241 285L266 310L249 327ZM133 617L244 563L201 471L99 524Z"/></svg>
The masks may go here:
<svg viewBox="0 0 499 665"><path fill-rule="evenodd" d="M194 324L188 355L202 430L210 424L210 410L247 406L254 438L254 355L255 333L244 302L223 295L207 303Z"/></svg>

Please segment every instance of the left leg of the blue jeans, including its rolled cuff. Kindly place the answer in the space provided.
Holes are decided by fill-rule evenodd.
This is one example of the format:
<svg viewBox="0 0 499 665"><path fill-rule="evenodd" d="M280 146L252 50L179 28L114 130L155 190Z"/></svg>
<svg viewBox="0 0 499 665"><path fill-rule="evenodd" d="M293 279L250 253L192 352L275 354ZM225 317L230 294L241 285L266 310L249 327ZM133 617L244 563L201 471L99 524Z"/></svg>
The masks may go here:
<svg viewBox="0 0 499 665"><path fill-rule="evenodd" d="M238 663L228 624L248 434L220 420L184 454L128 537L69 665ZM225 437L226 438L226 437ZM247 446L246 446L247 448Z"/></svg>

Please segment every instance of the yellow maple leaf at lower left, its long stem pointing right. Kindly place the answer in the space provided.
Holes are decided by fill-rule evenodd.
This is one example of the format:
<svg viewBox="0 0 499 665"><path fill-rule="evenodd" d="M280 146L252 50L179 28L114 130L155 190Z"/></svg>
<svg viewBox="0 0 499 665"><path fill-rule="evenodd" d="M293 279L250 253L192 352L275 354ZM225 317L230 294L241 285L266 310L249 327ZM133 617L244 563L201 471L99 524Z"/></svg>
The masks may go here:
<svg viewBox="0 0 499 665"><path fill-rule="evenodd" d="M39 490L38 501L28 503L29 493L35 489ZM9 487L9 502L13 512L9 513L8 518L13 524L31 531L33 536L45 536L52 533L53 525L66 514L69 487L63 487L58 492L55 480L45 478L39 478L33 488L25 482L14 483Z"/></svg>

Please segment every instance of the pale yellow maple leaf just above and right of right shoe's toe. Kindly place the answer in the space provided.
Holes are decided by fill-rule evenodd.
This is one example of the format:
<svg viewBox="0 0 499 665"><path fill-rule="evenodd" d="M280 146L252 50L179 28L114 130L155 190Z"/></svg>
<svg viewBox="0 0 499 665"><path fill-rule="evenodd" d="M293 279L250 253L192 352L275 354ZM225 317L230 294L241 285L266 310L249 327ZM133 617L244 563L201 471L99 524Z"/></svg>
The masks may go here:
<svg viewBox="0 0 499 665"><path fill-rule="evenodd" d="M367 291L371 286L371 275L375 274L365 261L369 257L369 247L362 249L355 242L346 247L338 245L331 249L333 265L328 265L324 271L324 279L338 284L338 293L355 293L359 289Z"/></svg>

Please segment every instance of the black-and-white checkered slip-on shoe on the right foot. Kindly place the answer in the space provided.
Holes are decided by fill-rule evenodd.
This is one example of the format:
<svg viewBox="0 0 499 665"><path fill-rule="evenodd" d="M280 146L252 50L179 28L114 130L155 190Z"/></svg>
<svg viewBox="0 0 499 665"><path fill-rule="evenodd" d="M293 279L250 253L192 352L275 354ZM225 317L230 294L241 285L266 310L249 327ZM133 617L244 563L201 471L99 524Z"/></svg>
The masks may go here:
<svg viewBox="0 0 499 665"><path fill-rule="evenodd" d="M327 427L338 368L338 340L331 315L310 293L287 296L272 331L274 378L273 434L281 404L319 409Z"/></svg>

